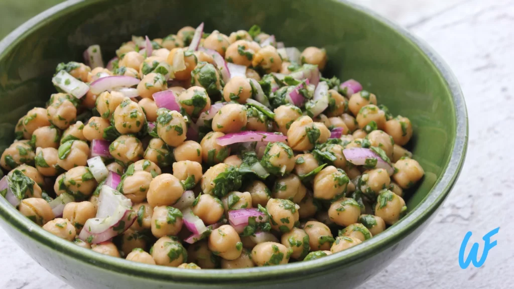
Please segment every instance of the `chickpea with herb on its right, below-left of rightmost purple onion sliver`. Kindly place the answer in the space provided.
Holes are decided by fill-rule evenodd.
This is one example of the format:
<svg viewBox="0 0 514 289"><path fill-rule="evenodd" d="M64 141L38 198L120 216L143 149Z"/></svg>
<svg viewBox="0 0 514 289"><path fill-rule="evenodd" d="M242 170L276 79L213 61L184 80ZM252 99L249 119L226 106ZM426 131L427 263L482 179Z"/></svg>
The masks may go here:
<svg viewBox="0 0 514 289"><path fill-rule="evenodd" d="M350 179L343 170L325 167L314 177L314 197L331 200L346 191Z"/></svg>

